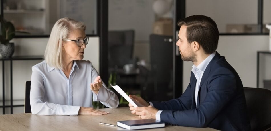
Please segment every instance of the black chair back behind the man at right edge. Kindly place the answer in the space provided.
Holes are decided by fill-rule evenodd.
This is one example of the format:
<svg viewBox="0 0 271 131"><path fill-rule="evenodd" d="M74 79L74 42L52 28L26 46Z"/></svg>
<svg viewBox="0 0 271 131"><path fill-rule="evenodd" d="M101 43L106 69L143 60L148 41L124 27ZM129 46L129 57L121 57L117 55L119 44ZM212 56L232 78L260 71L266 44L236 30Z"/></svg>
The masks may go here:
<svg viewBox="0 0 271 131"><path fill-rule="evenodd" d="M251 130L271 130L271 91L244 87Z"/></svg>

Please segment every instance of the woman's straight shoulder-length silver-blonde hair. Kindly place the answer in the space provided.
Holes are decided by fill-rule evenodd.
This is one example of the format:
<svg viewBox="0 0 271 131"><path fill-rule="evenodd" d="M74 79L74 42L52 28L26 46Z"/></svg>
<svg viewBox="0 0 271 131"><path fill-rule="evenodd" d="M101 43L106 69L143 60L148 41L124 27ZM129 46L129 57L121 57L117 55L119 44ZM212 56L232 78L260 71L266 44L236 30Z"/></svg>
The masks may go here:
<svg viewBox="0 0 271 131"><path fill-rule="evenodd" d="M56 69L63 68L61 55L62 40L68 39L68 35L72 29L86 30L86 26L83 22L78 22L67 17L59 19L54 24L44 53L44 59L50 67Z"/></svg>

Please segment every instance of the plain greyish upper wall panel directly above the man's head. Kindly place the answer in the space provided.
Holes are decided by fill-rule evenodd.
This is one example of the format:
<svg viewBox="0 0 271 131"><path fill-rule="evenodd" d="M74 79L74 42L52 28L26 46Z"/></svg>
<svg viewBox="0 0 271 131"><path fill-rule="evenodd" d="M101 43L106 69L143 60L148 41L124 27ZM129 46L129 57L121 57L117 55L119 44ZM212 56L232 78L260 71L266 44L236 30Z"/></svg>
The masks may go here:
<svg viewBox="0 0 271 131"><path fill-rule="evenodd" d="M185 15L209 16L217 23L219 32L225 33L227 24L257 24L257 12L255 0L187 0Z"/></svg>

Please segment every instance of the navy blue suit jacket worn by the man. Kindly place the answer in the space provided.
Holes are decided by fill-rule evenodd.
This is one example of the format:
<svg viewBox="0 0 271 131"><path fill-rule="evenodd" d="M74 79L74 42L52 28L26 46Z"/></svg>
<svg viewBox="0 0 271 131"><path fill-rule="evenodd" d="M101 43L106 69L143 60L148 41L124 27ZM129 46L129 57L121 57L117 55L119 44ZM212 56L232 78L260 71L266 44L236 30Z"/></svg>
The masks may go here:
<svg viewBox="0 0 271 131"><path fill-rule="evenodd" d="M196 78L177 99L152 102L161 121L177 126L211 127L218 130L250 130L243 84L224 56L216 52L206 67L195 103Z"/></svg>

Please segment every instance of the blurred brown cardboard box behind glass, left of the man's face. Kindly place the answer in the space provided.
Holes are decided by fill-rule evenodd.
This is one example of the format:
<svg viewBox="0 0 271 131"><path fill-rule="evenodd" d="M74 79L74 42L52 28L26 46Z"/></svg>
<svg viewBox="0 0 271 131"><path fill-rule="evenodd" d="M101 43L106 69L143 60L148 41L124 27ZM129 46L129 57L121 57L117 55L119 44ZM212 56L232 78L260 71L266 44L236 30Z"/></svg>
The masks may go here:
<svg viewBox="0 0 271 131"><path fill-rule="evenodd" d="M173 36L173 20L163 18L155 21L153 23L153 34Z"/></svg>

